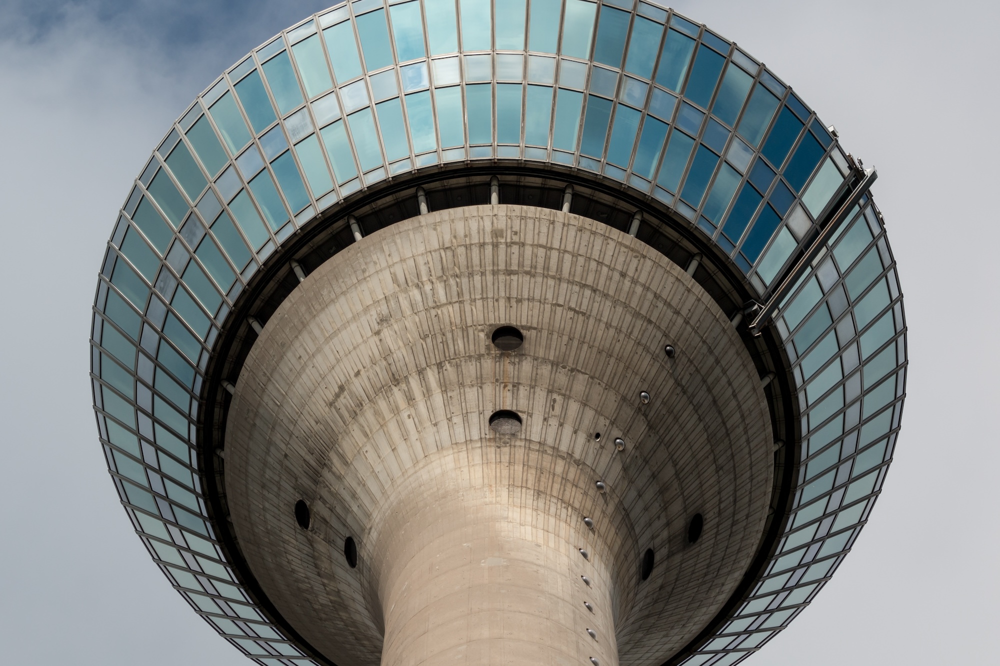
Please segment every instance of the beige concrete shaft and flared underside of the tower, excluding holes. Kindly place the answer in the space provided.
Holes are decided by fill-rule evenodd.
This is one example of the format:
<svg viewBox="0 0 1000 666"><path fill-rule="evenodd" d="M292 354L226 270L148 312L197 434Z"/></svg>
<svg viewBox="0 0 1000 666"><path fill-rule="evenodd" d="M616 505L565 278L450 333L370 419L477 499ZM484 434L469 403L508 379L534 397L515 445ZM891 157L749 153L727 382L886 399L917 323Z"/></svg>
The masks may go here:
<svg viewBox="0 0 1000 666"><path fill-rule="evenodd" d="M504 324L520 349L491 343ZM593 220L478 206L380 230L286 299L237 383L225 489L261 588L340 666L659 666L749 566L772 447L744 345L683 270Z"/></svg>

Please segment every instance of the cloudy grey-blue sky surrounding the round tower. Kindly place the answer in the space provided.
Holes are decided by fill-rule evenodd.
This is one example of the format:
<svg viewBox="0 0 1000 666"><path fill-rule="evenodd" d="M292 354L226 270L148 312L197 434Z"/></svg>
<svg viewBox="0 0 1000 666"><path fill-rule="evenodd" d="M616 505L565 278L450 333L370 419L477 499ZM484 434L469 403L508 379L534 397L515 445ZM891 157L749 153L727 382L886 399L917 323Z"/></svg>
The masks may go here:
<svg viewBox="0 0 1000 666"><path fill-rule="evenodd" d="M170 589L121 509L91 410L89 312L117 210L169 124L225 67L327 2L2 5L5 663L248 663ZM763 60L878 168L910 329L884 494L833 581L750 664L997 661L998 7L676 3Z"/></svg>

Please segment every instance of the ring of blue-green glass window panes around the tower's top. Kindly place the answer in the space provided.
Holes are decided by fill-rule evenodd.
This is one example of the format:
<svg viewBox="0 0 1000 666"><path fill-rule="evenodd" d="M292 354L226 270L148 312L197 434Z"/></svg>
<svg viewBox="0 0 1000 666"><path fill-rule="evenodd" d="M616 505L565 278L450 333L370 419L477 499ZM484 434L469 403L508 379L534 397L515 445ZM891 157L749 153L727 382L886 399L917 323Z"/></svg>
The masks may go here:
<svg viewBox="0 0 1000 666"><path fill-rule="evenodd" d="M195 456L230 308L292 232L351 194L450 162L600 174L700 229L764 298L815 237L850 158L735 45L632 0L357 0L286 30L174 124L109 242L94 404L119 494L168 578L263 664L309 662L235 582ZM554 29L558 26L558 30ZM685 664L733 664L795 617L867 519L892 457L906 337L866 196L774 316L803 464L766 577Z"/></svg>

